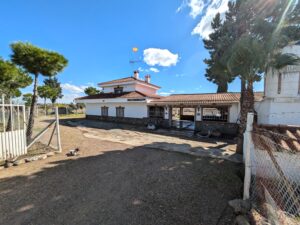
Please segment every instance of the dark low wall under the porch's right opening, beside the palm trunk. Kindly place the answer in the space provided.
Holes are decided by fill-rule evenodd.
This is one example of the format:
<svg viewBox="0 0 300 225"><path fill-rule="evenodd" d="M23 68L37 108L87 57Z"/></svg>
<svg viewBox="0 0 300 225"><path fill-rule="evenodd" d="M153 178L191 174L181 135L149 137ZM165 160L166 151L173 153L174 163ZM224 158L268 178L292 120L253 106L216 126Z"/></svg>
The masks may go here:
<svg viewBox="0 0 300 225"><path fill-rule="evenodd" d="M236 136L238 124L217 121L196 121L195 131L207 134L209 131L221 132L224 135Z"/></svg>

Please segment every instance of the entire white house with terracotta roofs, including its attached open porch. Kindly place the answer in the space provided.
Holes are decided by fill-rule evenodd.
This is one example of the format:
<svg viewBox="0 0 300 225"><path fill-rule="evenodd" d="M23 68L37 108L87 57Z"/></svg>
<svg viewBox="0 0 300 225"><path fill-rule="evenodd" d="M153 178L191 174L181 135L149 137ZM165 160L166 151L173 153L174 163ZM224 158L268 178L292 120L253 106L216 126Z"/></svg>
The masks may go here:
<svg viewBox="0 0 300 225"><path fill-rule="evenodd" d="M138 71L132 77L98 85L102 93L76 99L77 103L85 104L89 119L140 125L154 123L162 127L179 126L203 132L219 130L229 135L237 132L240 93L162 97L157 95L160 87L150 83L150 75L140 79ZM255 93L255 100L261 99L262 93Z"/></svg>

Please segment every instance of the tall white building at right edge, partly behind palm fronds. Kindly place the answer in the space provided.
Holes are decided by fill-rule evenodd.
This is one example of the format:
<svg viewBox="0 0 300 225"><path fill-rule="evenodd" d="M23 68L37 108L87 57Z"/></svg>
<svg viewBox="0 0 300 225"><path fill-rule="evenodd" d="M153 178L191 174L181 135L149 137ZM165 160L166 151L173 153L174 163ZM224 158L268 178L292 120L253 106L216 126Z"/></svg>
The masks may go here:
<svg viewBox="0 0 300 225"><path fill-rule="evenodd" d="M287 46L283 52L300 57L300 45ZM259 124L300 126L300 65L268 72L264 98L256 111Z"/></svg>

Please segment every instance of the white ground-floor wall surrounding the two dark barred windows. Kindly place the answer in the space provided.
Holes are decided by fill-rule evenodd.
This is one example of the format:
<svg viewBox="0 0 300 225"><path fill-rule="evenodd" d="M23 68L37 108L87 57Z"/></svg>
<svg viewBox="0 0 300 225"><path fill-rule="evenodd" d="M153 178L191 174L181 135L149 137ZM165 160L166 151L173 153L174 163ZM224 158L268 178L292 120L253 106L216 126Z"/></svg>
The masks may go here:
<svg viewBox="0 0 300 225"><path fill-rule="evenodd" d="M148 116L146 102L121 102L121 103L86 103L86 115L101 115L101 107L108 107L108 115L116 116L116 107L124 107L124 116L130 118L144 118Z"/></svg>

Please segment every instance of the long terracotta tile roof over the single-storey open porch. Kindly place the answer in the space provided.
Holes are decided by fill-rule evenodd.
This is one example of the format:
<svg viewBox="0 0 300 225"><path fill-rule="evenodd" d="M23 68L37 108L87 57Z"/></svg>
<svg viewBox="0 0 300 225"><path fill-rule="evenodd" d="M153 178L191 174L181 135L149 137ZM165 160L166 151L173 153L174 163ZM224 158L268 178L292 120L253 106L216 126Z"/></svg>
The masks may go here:
<svg viewBox="0 0 300 225"><path fill-rule="evenodd" d="M255 101L261 101L262 92L256 92ZM154 100L151 104L213 104L234 103L240 101L240 93L174 94Z"/></svg>

